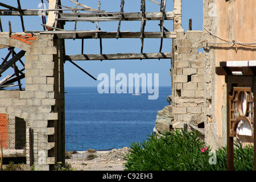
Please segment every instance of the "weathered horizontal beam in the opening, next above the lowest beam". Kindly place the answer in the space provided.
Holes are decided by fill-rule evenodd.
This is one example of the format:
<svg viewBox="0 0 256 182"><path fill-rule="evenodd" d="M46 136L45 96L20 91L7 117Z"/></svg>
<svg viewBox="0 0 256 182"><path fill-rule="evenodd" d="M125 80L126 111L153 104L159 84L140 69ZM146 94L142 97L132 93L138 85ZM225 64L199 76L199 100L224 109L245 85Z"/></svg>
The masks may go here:
<svg viewBox="0 0 256 182"><path fill-rule="evenodd" d="M40 32L41 34L56 34L57 39L73 39L73 32L69 33L68 31L65 31L65 34L61 34L58 32L60 31L46 31L46 32ZM96 31L93 32L77 32L76 39L96 39L95 35ZM98 32L98 35L102 39L115 39L117 36L116 32ZM161 32L144 32L143 33L144 38L149 39L159 39L161 38ZM141 32L119 32L118 38L141 38ZM173 39L176 38L176 32L164 32L163 33L164 39Z"/></svg>

